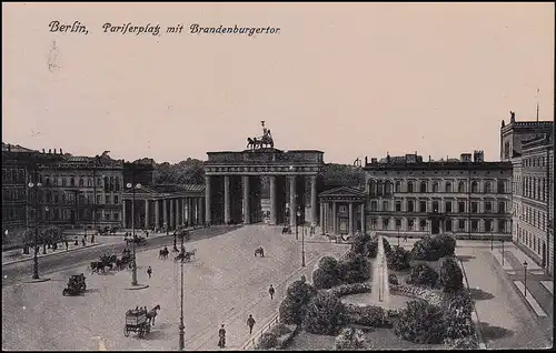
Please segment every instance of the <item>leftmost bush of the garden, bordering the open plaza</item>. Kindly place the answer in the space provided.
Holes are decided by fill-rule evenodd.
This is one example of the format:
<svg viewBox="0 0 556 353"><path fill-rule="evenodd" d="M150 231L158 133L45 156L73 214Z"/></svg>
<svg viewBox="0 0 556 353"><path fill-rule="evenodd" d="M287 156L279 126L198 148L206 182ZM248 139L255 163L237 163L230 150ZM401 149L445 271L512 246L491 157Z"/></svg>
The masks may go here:
<svg viewBox="0 0 556 353"><path fill-rule="evenodd" d="M304 280L295 281L288 286L286 297L281 301L279 313L280 322L299 325L304 321L307 303L317 290Z"/></svg>

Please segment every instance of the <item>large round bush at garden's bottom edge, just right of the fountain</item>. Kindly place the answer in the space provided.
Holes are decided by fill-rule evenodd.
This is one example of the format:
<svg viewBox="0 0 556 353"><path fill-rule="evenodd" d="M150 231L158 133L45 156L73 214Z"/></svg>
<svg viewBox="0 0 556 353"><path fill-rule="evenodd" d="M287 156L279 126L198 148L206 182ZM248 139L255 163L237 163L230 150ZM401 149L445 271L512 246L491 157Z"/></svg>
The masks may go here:
<svg viewBox="0 0 556 353"><path fill-rule="evenodd" d="M394 331L406 341L439 344L445 334L441 309L424 301L410 301L396 320Z"/></svg>

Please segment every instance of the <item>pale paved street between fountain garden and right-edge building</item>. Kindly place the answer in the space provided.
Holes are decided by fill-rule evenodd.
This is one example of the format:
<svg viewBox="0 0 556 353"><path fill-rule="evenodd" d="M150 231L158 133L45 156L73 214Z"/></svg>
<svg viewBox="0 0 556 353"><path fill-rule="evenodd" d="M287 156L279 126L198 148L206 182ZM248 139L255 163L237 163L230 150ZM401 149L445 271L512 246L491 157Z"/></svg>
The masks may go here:
<svg viewBox="0 0 556 353"><path fill-rule="evenodd" d="M397 238L389 239L391 245L396 245L397 241ZM400 240L400 245L410 250L415 241ZM549 286L553 282L546 280L549 279L546 274L534 274L538 265L533 260L512 243L506 243L503 268L499 242L495 242L494 250L490 250L488 241L458 240L456 255L463 261L487 349L540 349L552 345L554 294L545 285ZM525 260L533 264L528 266L527 274L529 301L519 291L519 284L515 284L524 280L524 269L519 264ZM533 299L545 315L539 315L530 304Z"/></svg>

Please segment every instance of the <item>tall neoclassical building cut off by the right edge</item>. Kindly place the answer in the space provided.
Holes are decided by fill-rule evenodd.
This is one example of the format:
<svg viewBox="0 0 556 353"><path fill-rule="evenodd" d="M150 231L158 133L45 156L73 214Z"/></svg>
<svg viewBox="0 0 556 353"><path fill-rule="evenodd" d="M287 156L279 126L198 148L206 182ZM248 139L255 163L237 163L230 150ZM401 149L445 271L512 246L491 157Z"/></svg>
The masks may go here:
<svg viewBox="0 0 556 353"><path fill-rule="evenodd" d="M554 273L554 122L516 121L500 129L500 158L513 164L513 239Z"/></svg>

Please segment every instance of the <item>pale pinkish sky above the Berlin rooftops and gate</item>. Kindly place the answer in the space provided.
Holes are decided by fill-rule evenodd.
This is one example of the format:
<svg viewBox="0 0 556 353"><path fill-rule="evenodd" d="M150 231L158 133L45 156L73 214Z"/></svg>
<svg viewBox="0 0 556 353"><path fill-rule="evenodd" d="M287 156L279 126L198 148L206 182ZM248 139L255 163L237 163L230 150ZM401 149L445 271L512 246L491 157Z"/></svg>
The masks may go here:
<svg viewBox="0 0 556 353"><path fill-rule="evenodd" d="M484 150L509 119L554 120L554 3L2 3L2 141L177 162L246 148L326 162ZM89 34L50 33L49 22ZM161 26L161 36L102 24ZM167 26L185 26L166 34ZM276 27L279 34L187 28ZM539 89L537 98L537 89Z"/></svg>

